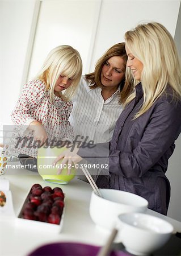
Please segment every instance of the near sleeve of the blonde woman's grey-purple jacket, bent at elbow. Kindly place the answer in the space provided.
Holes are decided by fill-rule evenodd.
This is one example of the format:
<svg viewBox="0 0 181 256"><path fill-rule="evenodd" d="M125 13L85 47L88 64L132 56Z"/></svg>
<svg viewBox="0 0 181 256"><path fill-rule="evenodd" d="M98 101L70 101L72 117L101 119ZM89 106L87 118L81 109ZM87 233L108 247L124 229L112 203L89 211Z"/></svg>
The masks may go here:
<svg viewBox="0 0 181 256"><path fill-rule="evenodd" d="M141 177L168 152L181 131L180 103L158 102L151 113L141 141L132 153L110 151L110 172L124 177ZM134 136L134 135L133 135ZM172 152L171 152L172 153Z"/></svg>

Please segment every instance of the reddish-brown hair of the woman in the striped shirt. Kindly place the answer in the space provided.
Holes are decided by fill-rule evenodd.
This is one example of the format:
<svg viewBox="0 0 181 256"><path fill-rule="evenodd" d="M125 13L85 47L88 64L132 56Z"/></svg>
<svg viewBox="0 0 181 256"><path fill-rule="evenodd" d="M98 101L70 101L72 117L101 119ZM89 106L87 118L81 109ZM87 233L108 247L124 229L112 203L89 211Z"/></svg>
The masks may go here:
<svg viewBox="0 0 181 256"><path fill-rule="evenodd" d="M120 56L123 59L124 69L126 69L128 56L127 56L127 52L125 51L125 43L122 42L122 43L114 44L96 62L94 72L85 75L86 79L90 81L91 89L94 89L98 86L102 87L100 76L101 76L103 65L106 63L108 59L110 59L113 56ZM120 87L121 87L120 101L119 101L120 104L125 102L129 93L132 90L132 82L128 82L128 81L129 80L125 82L125 77L124 77L123 81L120 82Z"/></svg>

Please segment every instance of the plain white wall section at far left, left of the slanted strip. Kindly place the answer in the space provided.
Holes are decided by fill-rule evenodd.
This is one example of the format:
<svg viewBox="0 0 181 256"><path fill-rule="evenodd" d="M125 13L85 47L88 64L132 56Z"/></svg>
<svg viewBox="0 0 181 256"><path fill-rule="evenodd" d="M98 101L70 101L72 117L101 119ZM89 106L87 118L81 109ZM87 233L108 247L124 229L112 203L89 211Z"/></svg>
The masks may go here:
<svg viewBox="0 0 181 256"><path fill-rule="evenodd" d="M11 123L18 100L35 0L1 0L1 122Z"/></svg>

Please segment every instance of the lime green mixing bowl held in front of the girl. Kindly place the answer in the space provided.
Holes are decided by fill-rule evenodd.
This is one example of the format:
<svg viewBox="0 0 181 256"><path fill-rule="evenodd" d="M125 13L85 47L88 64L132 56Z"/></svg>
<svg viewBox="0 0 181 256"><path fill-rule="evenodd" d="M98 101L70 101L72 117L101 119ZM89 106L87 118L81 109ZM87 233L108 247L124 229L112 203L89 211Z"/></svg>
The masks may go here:
<svg viewBox="0 0 181 256"><path fill-rule="evenodd" d="M61 154L66 147L57 148L56 146L40 147L37 151L37 170L43 180L57 184L67 184L75 177L76 169L71 168L70 175L68 175L68 165L65 164L60 175L57 175L58 168L61 167L62 160L53 166L53 161Z"/></svg>

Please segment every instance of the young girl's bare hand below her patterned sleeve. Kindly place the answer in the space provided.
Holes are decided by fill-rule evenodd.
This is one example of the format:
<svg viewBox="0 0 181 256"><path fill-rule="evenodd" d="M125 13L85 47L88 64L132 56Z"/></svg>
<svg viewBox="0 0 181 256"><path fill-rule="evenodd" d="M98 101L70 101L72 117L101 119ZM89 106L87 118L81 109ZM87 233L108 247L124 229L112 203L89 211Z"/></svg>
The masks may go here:
<svg viewBox="0 0 181 256"><path fill-rule="evenodd" d="M35 141L40 141L40 146L42 146L47 141L47 133L40 122L33 121L28 126L28 130L33 131L34 139Z"/></svg>

